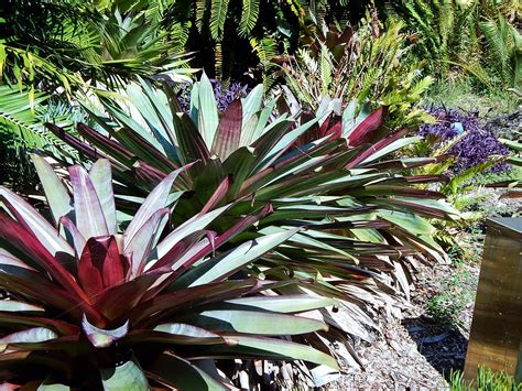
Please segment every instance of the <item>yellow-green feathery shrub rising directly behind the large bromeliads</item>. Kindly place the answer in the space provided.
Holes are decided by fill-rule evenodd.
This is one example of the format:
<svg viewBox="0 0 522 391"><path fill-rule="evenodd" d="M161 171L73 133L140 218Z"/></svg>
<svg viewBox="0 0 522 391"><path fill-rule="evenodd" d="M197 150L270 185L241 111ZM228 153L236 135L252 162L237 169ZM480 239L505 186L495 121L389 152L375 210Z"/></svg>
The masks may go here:
<svg viewBox="0 0 522 391"><path fill-rule="evenodd" d="M287 88L304 108L317 110L323 97L387 106L387 124L417 126L428 119L420 104L432 83L422 63L406 61L410 46L403 24L392 20L383 32L362 21L358 30L325 25L295 57L283 64Z"/></svg>

